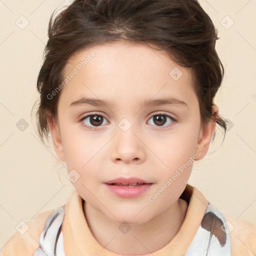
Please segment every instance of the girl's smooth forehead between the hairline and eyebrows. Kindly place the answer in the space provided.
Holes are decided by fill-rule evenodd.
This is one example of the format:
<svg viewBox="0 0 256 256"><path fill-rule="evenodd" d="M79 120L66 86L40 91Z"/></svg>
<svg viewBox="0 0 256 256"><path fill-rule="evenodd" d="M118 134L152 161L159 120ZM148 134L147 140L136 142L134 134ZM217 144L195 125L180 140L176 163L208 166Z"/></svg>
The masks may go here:
<svg viewBox="0 0 256 256"><path fill-rule="evenodd" d="M189 102L196 97L190 69L176 64L164 51L142 44L96 45L76 53L68 62L63 78L75 74L61 91L66 102L81 94L112 102L167 95Z"/></svg>

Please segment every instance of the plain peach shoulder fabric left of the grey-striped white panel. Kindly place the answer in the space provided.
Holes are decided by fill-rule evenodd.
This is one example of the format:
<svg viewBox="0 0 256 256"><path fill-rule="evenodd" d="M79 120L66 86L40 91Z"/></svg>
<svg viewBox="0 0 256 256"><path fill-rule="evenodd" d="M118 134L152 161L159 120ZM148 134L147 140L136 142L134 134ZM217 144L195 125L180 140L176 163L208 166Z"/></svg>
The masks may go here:
<svg viewBox="0 0 256 256"><path fill-rule="evenodd" d="M39 246L38 241L45 222L53 211L54 209L50 209L37 214L29 221L21 221L16 227L17 231L4 243L0 256L33 255Z"/></svg>

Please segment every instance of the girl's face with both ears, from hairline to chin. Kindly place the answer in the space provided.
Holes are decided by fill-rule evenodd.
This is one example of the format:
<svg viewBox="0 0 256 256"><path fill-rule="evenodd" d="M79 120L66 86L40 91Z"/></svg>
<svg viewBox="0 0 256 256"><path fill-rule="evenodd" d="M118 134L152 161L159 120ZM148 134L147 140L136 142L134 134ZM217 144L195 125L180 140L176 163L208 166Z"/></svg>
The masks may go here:
<svg viewBox="0 0 256 256"><path fill-rule="evenodd" d="M59 159L80 196L104 216L150 220L177 202L214 129L213 122L200 128L190 70L163 52L123 42L88 48L68 62L58 124L48 119ZM105 184L119 177L151 184L124 197Z"/></svg>

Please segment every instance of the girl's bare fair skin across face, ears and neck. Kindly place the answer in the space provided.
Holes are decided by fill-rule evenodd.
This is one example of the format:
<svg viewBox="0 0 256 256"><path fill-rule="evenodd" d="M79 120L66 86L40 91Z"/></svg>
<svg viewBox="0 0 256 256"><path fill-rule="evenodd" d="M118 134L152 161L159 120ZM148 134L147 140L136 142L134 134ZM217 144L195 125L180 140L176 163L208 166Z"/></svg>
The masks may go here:
<svg viewBox="0 0 256 256"><path fill-rule="evenodd" d="M67 172L75 169L80 175L72 184L85 200L84 214L96 240L123 255L153 252L171 241L184 220L188 205L179 196L192 164L155 201L148 198L189 157L196 152L195 160L204 157L216 123L200 125L191 71L164 52L141 44L119 41L87 48L68 60L65 75L95 48L99 50L95 57L62 88L56 120L50 114L47 117L53 146L58 158L66 162ZM183 73L178 80L169 75L174 67ZM115 105L69 106L82 95L109 99ZM145 99L163 96L183 100L187 107L140 106ZM218 108L212 108L216 117ZM93 126L89 117L79 121L93 112L105 117L100 126ZM157 125L152 116L159 112L176 122L166 117L162 126ZM123 118L131 124L125 132L118 126ZM120 176L139 177L153 185L139 196L119 197L103 183ZM127 233L118 229L123 221L131 227Z"/></svg>

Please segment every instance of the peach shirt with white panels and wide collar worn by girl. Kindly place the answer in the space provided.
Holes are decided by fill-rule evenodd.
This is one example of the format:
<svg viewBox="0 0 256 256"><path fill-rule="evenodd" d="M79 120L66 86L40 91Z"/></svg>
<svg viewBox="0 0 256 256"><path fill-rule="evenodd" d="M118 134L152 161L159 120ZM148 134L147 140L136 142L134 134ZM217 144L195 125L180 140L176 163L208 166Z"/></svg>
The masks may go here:
<svg viewBox="0 0 256 256"><path fill-rule="evenodd" d="M202 248L204 245L201 239L204 239L204 244L210 244L208 256L256 255L256 225L220 211L189 184L180 198L187 201L188 208L179 231L168 244L144 256L197 256L200 250L203 256L206 255L206 249ZM26 222L29 229L25 233L13 233L5 242L0 256L120 255L103 248L94 238L85 219L82 203L83 199L74 190L65 205L37 214ZM213 234L211 240L210 233ZM231 253L222 252L223 249Z"/></svg>

